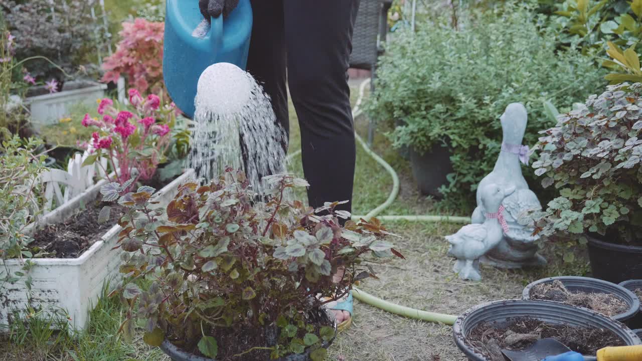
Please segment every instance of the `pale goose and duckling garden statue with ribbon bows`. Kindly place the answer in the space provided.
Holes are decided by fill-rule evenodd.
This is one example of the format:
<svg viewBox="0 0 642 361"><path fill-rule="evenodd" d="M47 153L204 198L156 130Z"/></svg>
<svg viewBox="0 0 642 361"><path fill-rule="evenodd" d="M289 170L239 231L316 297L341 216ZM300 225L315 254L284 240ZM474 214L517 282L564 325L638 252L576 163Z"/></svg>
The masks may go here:
<svg viewBox="0 0 642 361"><path fill-rule="evenodd" d="M545 265L546 260L537 254L539 236L533 235L532 224L520 224L519 220L542 208L537 195L528 189L521 173L521 164L528 164L530 152L522 145L528 116L520 103L508 105L501 116L503 141L495 168L482 179L477 188L477 207L472 216L472 225L458 233L447 236L451 243L449 254L458 261L455 272L463 279L479 280L478 263L501 268ZM503 197L496 204L496 198L489 189L503 190ZM495 231L499 225L501 233L481 237L480 229L488 230L489 222ZM467 228L468 227L468 228ZM461 233L461 234L460 234Z"/></svg>

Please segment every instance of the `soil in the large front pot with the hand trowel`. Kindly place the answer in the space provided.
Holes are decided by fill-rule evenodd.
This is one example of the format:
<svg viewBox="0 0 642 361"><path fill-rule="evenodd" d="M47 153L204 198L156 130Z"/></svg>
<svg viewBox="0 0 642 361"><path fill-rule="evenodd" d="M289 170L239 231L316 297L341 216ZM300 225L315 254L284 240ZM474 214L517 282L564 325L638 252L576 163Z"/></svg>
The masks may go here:
<svg viewBox="0 0 642 361"><path fill-rule="evenodd" d="M494 322L483 322L471 331L466 342L489 360L504 361L501 349L526 349L535 341L547 338L556 339L586 356L595 355L598 349L607 346L625 346L612 331L550 324L527 317L508 319L501 327Z"/></svg>

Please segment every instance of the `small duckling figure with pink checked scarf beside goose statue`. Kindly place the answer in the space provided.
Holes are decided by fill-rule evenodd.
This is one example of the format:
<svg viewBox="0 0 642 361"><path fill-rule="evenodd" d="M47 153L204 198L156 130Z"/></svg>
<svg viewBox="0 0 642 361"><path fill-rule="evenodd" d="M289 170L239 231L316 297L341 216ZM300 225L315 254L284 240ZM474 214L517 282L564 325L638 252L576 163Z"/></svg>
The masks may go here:
<svg viewBox="0 0 642 361"><path fill-rule="evenodd" d="M480 191L482 204L490 212L485 213L484 222L464 225L457 233L446 236L451 244L448 254L457 258L453 270L460 278L473 281L482 279L478 259L496 247L508 231L501 202L514 191L514 187L504 189L499 184L483 186Z"/></svg>

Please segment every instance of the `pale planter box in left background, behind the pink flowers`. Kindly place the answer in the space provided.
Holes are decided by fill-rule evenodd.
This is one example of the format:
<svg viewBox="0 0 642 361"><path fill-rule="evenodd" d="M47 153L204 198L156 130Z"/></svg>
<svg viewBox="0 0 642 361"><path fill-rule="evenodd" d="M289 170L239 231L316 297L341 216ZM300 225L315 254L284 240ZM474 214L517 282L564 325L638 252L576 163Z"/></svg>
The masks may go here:
<svg viewBox="0 0 642 361"><path fill-rule="evenodd" d="M30 96L24 102L30 105L31 122L35 125L56 124L69 116L69 108L78 103L96 105L96 99L105 97L107 84L89 81L66 82L61 92Z"/></svg>

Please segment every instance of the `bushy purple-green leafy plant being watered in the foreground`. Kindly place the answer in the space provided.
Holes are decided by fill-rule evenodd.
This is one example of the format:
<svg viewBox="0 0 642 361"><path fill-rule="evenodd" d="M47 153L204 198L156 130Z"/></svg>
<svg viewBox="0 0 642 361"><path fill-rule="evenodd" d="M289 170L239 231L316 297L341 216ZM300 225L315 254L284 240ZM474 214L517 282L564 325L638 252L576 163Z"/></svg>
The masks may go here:
<svg viewBox="0 0 642 361"><path fill-rule="evenodd" d="M403 256L378 220L342 227L339 219L351 215L334 210L340 202L312 209L288 200L305 180L268 182L270 195L257 197L243 172L228 169L206 186L180 186L166 208L150 187L101 189L104 200L125 208L117 247L125 251L126 337L143 324L148 344L169 340L216 360L275 359L306 348L313 360L325 358L322 344L334 329L310 313L374 276L367 260ZM109 213L105 207L101 218Z"/></svg>

